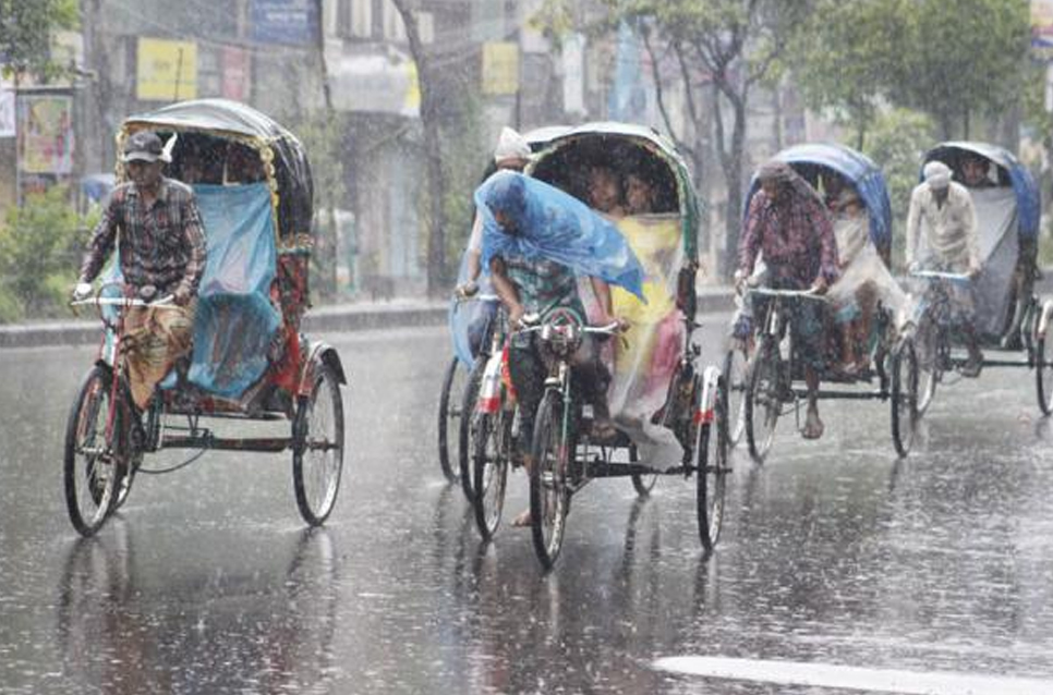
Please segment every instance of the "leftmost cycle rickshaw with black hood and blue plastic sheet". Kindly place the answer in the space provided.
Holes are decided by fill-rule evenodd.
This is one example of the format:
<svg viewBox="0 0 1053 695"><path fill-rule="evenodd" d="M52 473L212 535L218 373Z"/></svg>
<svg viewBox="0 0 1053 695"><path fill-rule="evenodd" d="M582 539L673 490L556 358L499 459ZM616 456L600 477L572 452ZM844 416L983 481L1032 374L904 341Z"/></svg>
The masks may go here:
<svg viewBox="0 0 1053 695"><path fill-rule="evenodd" d="M126 498L144 454L165 449L291 451L296 505L322 524L343 466L347 377L336 350L301 332L308 306L312 180L300 141L268 117L221 99L173 103L124 121L118 161L141 130L168 142L168 175L191 184L208 258L198 289L193 354L140 415L125 382L121 327L146 304L104 273L94 298L105 330L65 435L65 499L73 526L94 534ZM118 179L123 167L118 164ZM153 305L161 307L164 300ZM179 388L177 388L177 383ZM281 423L268 437L220 437L218 420ZM209 426L206 426L209 425Z"/></svg>

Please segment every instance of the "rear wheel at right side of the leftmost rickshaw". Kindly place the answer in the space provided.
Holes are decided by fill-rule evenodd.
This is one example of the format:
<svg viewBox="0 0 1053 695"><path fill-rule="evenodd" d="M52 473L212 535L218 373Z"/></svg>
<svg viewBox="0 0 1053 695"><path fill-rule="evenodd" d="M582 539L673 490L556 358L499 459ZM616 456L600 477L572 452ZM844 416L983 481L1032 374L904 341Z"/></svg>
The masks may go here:
<svg viewBox="0 0 1053 695"><path fill-rule="evenodd" d="M305 522L319 526L337 501L343 471L343 400L329 365L315 367L311 393L298 400L292 432L296 507Z"/></svg>

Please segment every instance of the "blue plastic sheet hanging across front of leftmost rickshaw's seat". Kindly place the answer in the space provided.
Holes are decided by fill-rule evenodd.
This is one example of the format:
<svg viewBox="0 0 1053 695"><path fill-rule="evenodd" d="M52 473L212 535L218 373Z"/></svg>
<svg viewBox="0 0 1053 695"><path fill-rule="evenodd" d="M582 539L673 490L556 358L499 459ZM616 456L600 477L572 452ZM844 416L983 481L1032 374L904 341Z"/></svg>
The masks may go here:
<svg viewBox="0 0 1053 695"><path fill-rule="evenodd" d="M237 399L263 376L281 322L270 303L275 277L274 219L266 184L194 186L208 261L198 289L194 359L189 379Z"/></svg>

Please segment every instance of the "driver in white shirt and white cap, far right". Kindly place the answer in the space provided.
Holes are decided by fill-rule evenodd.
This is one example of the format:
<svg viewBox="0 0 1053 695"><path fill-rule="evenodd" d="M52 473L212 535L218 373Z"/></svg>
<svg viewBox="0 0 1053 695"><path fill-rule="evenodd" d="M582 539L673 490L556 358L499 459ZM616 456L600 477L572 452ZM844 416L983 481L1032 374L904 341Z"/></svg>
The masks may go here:
<svg viewBox="0 0 1053 695"><path fill-rule="evenodd" d="M911 272L937 270L976 277L980 272L980 234L972 197L960 183L951 180L951 168L930 161L922 181L910 194L907 214L907 267ZM969 362L965 376L977 376L983 364L973 330L976 309L972 289L947 283L949 319L966 336Z"/></svg>

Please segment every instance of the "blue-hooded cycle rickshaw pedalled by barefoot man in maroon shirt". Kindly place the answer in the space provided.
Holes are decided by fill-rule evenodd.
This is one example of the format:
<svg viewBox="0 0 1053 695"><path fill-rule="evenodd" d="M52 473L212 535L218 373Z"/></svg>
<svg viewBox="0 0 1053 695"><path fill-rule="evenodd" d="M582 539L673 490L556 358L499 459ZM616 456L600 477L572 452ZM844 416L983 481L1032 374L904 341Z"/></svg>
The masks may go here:
<svg viewBox="0 0 1053 695"><path fill-rule="evenodd" d="M862 204L867 217L835 219L835 229L839 224L867 223L867 228L860 230L864 241L856 257L860 263L870 264L876 277L883 279L885 290L877 292L869 333L862 337L862 344L858 346L866 355L868 366L854 373L832 368L830 365L838 365L840 358L834 355L834 342L827 340L827 369L820 375L826 386L820 388L819 398L888 401L893 444L899 455L906 455L918 420L918 362L909 341L900 339L897 312L891 306L903 304L905 297L888 273L892 210L884 175L868 157L837 144L798 145L780 151L775 158L792 167L816 190L822 187L828 195L833 186L840 186L842 193L850 192ZM759 187L754 176L746 209ZM870 254L869 258L863 254ZM800 404L808 392L800 382L802 364L788 330L790 309L794 303L825 302L825 297L762 286L752 286L748 293L764 297L766 306L760 315L752 316L752 320L742 321L741 314L737 317L733 333L739 334L733 334L724 366L728 382L726 407L730 413L730 442L738 442L745 436L750 456L761 463L772 447L779 417L794 412L799 420ZM746 301L750 298L748 296ZM827 317L825 326L831 328L832 324ZM827 332L827 338L834 336L834 331ZM863 386L869 388L860 388Z"/></svg>

